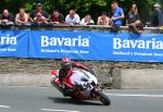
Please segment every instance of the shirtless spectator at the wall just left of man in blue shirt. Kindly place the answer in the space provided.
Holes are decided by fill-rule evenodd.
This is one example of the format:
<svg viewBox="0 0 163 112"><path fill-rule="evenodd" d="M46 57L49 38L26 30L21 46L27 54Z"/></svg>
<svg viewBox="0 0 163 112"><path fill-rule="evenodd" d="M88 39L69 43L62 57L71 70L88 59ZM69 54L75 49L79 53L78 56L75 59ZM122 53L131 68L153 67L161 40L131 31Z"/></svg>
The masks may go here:
<svg viewBox="0 0 163 112"><path fill-rule="evenodd" d="M101 16L98 17L97 25L110 25L110 17L106 16L105 12L102 12Z"/></svg>

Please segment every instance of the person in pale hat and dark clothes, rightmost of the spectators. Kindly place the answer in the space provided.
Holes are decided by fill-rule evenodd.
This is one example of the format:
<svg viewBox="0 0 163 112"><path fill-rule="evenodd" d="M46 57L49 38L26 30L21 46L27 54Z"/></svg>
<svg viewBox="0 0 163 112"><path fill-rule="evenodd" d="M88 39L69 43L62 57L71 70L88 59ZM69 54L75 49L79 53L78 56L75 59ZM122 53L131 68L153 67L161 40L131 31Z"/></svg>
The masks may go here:
<svg viewBox="0 0 163 112"><path fill-rule="evenodd" d="M153 5L153 17L152 17L152 25L154 27L156 26L163 26L163 9L160 3L155 3Z"/></svg>

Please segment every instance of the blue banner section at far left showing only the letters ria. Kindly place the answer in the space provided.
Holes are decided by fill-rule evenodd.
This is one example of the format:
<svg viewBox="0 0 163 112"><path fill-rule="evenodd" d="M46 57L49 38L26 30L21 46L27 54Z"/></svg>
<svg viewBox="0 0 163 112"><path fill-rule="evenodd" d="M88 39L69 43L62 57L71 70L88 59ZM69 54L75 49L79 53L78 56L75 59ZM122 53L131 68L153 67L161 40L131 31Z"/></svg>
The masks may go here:
<svg viewBox="0 0 163 112"><path fill-rule="evenodd" d="M0 30L0 57L27 58L29 30Z"/></svg>

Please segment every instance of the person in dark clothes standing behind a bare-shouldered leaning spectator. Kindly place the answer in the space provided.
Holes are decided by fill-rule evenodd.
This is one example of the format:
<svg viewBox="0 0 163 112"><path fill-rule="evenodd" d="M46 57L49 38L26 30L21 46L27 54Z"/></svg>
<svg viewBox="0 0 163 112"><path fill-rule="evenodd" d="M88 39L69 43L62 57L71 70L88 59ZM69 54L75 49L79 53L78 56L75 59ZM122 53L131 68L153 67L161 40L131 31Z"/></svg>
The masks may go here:
<svg viewBox="0 0 163 112"><path fill-rule="evenodd" d="M47 20L49 18L49 14L42 10L42 4L41 3L37 3L37 9L33 10L29 13L29 16L32 17L32 21L34 20L34 17L36 17L36 15L40 13L42 16L45 16Z"/></svg>

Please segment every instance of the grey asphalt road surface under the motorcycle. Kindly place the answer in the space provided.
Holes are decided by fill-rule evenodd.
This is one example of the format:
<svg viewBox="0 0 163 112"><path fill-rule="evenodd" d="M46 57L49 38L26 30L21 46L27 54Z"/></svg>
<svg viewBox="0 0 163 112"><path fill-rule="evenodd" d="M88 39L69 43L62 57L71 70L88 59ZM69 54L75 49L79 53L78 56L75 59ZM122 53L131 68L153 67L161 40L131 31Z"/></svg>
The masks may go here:
<svg viewBox="0 0 163 112"><path fill-rule="evenodd" d="M0 87L0 112L163 112L163 90L104 90L111 105L74 102L53 87Z"/></svg>

